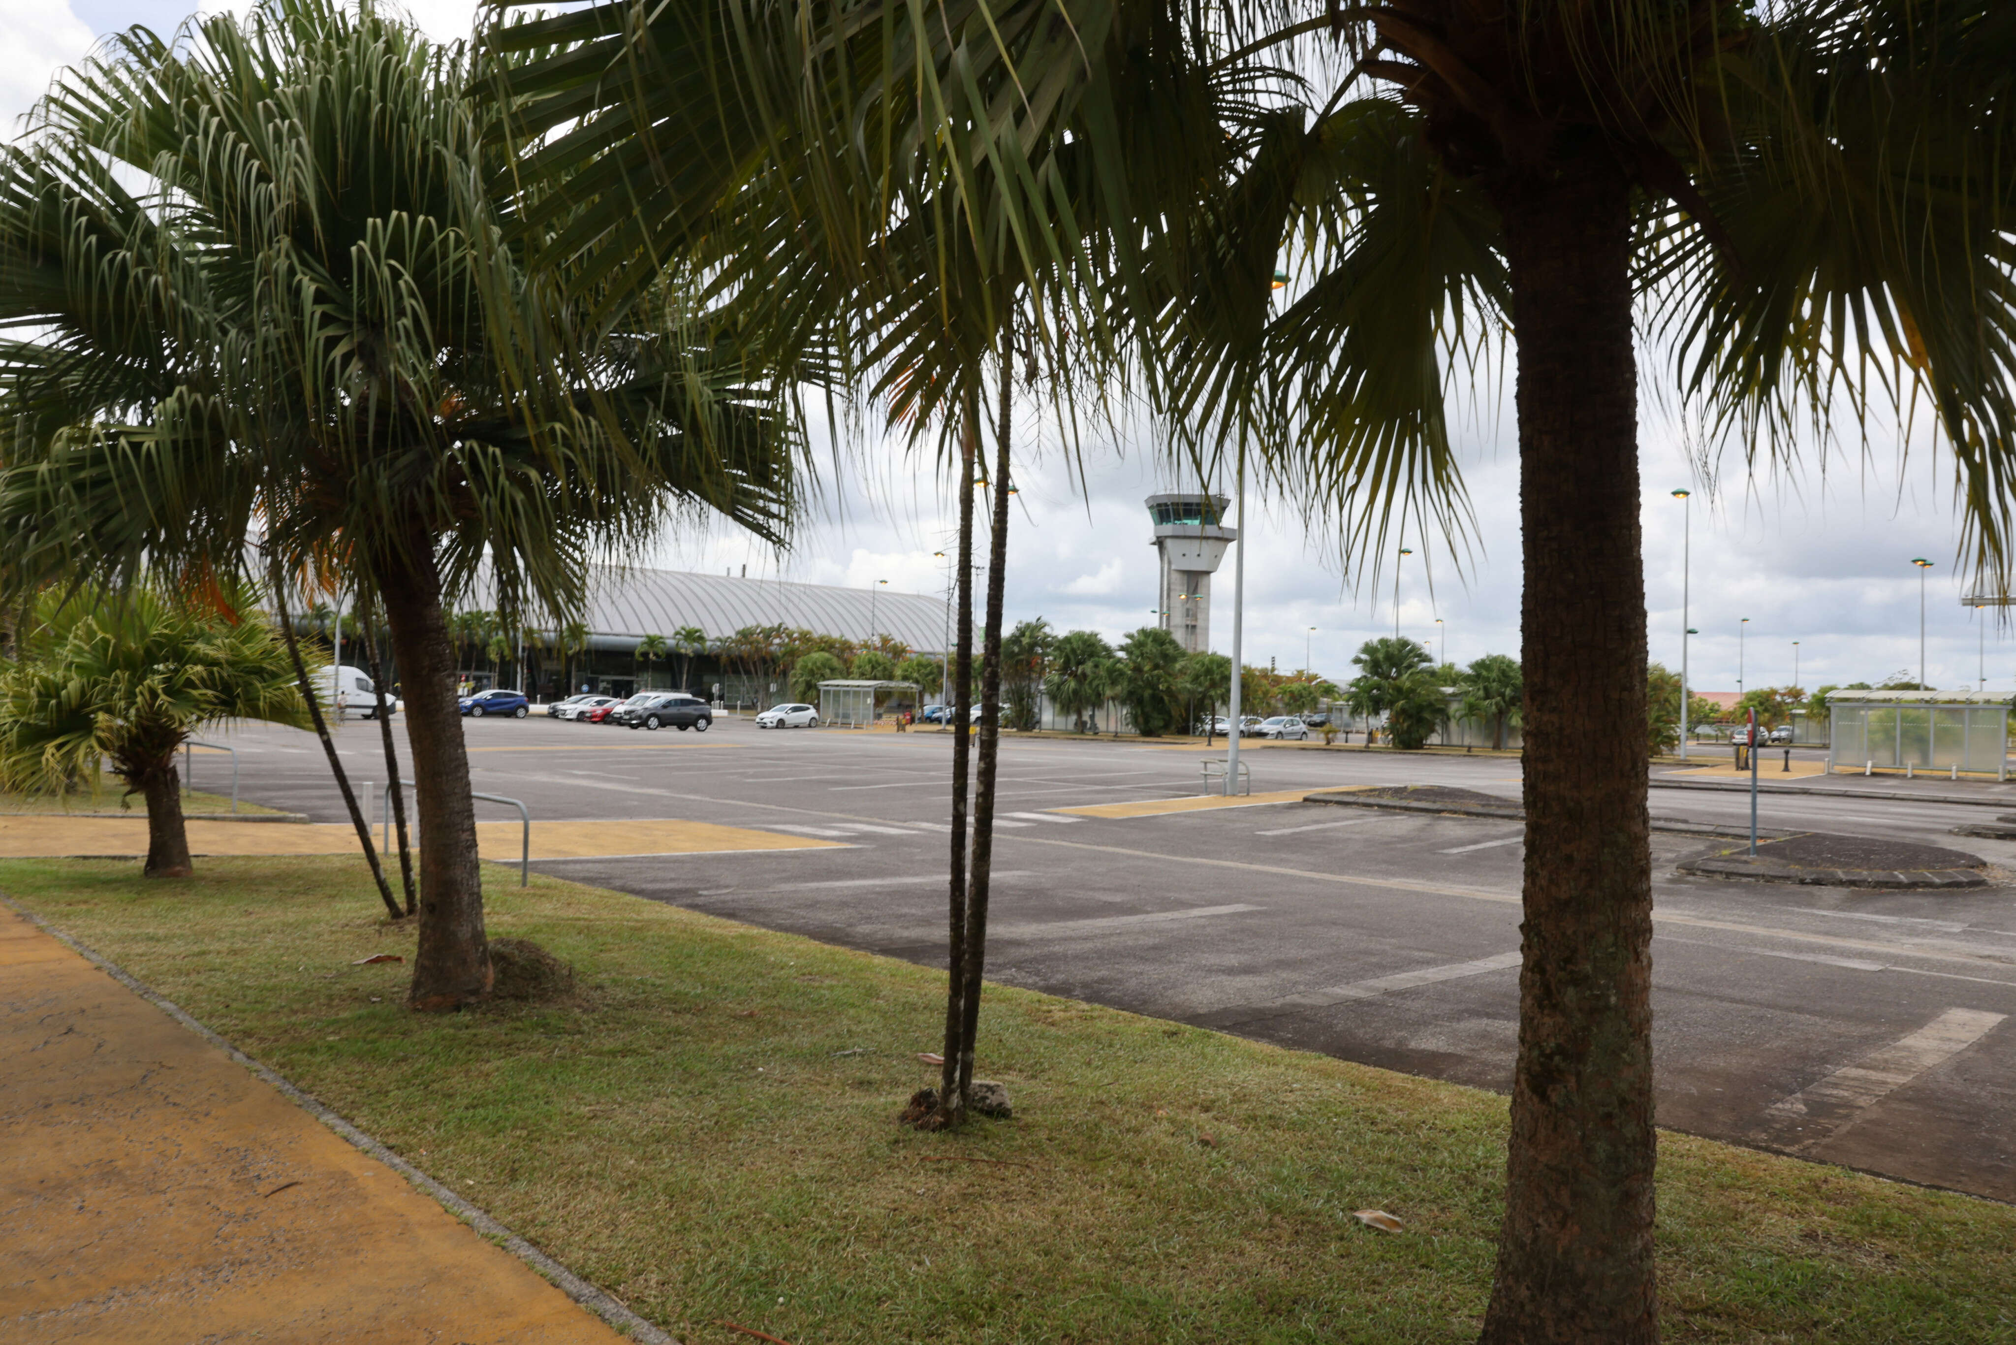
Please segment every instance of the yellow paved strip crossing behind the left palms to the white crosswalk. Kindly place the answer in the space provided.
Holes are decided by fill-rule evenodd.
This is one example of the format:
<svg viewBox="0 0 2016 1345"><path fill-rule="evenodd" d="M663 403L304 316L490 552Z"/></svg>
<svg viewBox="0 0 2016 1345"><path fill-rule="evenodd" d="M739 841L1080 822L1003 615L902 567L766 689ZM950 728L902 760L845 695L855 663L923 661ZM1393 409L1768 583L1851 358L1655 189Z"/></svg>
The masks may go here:
<svg viewBox="0 0 2016 1345"><path fill-rule="evenodd" d="M345 855L357 851L357 831L341 823L206 823L190 819L192 855ZM373 835L379 835L373 829ZM484 859L516 859L520 823L476 823ZM532 823L532 859L585 855L694 855L704 851L821 849L839 841L685 821ZM60 855L143 857L145 819L127 817L0 817L0 859Z"/></svg>

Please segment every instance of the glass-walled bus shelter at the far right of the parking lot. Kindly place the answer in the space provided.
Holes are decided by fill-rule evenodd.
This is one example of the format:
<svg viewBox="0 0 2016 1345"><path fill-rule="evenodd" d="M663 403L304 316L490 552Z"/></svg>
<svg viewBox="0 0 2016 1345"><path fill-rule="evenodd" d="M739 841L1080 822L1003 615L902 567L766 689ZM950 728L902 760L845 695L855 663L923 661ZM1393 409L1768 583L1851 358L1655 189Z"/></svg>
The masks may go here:
<svg viewBox="0 0 2016 1345"><path fill-rule="evenodd" d="M1829 770L2008 778L2008 702L1986 692L1831 692Z"/></svg>

